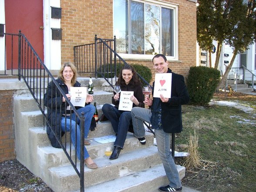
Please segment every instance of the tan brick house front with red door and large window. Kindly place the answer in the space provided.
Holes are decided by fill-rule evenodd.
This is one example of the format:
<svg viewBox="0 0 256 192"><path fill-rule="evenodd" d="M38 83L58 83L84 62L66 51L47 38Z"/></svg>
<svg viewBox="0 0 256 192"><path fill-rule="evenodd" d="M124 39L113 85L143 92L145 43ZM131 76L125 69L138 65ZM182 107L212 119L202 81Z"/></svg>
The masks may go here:
<svg viewBox="0 0 256 192"><path fill-rule="evenodd" d="M115 35L118 54L130 64L152 68L153 54L163 53L185 76L196 64L196 0L0 0L0 10L4 32L21 30L50 70L74 61L73 47L93 43L95 34Z"/></svg>

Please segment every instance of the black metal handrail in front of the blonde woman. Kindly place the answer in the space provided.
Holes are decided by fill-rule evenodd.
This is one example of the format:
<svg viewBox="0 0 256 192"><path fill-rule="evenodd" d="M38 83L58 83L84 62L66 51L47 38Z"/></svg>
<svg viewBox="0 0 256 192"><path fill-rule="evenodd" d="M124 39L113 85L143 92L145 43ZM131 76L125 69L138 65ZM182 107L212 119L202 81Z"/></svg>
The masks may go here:
<svg viewBox="0 0 256 192"><path fill-rule="evenodd" d="M27 40L24 34L19 31L19 34L7 34L4 33L5 38L7 36L11 36L11 55L10 58L7 56L5 57L5 62L8 64L11 62L11 70L12 75L18 75L19 80L22 78L27 85L28 90L30 91L32 97L34 98L34 101L37 103L37 106L39 107L43 117L44 117L44 128L45 125L49 126L51 130L54 133L54 136L56 137L57 142L61 145L61 148L63 149L65 155L69 159L71 165L73 166L75 172L77 173L78 177L80 178L80 191L84 192L84 163L80 163L80 170L77 168L77 152L75 150L75 159L73 160L71 158L72 151L71 151L71 138L69 139L69 150L67 148L67 139L65 138L62 142L57 137L57 132L54 131L52 127L52 122L49 122L47 119L47 112L51 111L50 108L47 108L44 106L44 103L42 102L43 95L46 92L47 85L45 83L49 83L52 81L52 83L56 86L57 90L60 92L61 96L66 99L65 105L70 105L71 110L73 110L74 114L77 116L77 120L81 121L81 125L84 125L84 117L80 116L74 108L73 104L68 100L66 94L64 91L60 88L59 84L55 80L54 76L51 74L51 72L47 69L43 61L38 56L37 52L34 50L30 42ZM13 40L14 36L18 36L18 39L16 42ZM17 45L14 46L14 45ZM9 45L8 45L9 46ZM14 51L18 51L18 58L15 57L13 54ZM5 49L5 55L6 55L6 49ZM13 66L17 62L18 64L18 74L13 74ZM6 71L6 70L5 70ZM5 72L6 74L6 72ZM56 91L57 92L57 91ZM56 98L51 98L52 101L57 100ZM56 108L61 108L61 106L55 106ZM65 111L67 114L67 111ZM57 113L55 114L57 115ZM71 121L68 119L68 121ZM61 130L60 130L61 131ZM66 132L66 131L65 131ZM61 134L58 133L58 134ZM75 134L76 135L76 134ZM76 138L77 141L77 138ZM76 146L76 143L75 143ZM84 159L84 129L81 129L81 156L80 159ZM81 161L82 162L82 161Z"/></svg>

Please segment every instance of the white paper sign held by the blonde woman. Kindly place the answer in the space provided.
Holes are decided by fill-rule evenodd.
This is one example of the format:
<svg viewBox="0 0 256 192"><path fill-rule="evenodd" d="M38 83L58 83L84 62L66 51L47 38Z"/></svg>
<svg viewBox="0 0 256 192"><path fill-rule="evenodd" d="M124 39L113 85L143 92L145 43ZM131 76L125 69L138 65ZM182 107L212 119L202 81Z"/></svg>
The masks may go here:
<svg viewBox="0 0 256 192"><path fill-rule="evenodd" d="M87 96L87 88L86 87L71 87L70 88L71 94L71 103L74 106L85 106L86 96Z"/></svg>

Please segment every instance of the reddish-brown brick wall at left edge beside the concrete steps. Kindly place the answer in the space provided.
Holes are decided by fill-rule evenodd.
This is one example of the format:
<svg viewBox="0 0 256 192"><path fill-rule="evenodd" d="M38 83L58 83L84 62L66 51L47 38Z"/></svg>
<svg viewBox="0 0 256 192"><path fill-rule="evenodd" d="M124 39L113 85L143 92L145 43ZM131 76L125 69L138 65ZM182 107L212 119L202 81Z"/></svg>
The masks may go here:
<svg viewBox="0 0 256 192"><path fill-rule="evenodd" d="M16 158L13 130L13 90L0 91L0 162Z"/></svg>

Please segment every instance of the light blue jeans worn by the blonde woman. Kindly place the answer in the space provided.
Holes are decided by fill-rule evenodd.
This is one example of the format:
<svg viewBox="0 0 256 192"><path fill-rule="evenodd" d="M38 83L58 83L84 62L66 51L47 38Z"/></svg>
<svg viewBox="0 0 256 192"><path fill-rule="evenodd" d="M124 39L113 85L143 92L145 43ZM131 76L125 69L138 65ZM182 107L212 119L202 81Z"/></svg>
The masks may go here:
<svg viewBox="0 0 256 192"><path fill-rule="evenodd" d="M84 112L84 138L88 137L89 128L91 125L91 119L95 112L95 107L92 104L88 104L83 108L79 108L78 113L81 115L82 112ZM71 121L70 121L71 118ZM66 120L65 120L66 119ZM76 126L77 121L77 126ZM71 116L62 117L61 118L61 130L70 131L71 128L71 141L76 148L77 151L77 158L80 160L80 126L81 122L79 118L76 118L76 115L74 113L71 114ZM77 135L75 134L75 128L77 128ZM77 144L75 146L75 143ZM84 147L84 159L87 159L89 157L88 151Z"/></svg>

